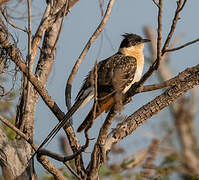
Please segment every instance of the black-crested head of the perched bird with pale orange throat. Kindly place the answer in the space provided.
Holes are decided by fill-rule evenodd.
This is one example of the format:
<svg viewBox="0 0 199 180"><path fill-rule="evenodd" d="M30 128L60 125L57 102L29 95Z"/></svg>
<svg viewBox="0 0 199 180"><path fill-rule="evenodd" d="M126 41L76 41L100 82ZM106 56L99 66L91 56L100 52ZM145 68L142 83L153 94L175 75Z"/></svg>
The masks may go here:
<svg viewBox="0 0 199 180"><path fill-rule="evenodd" d="M143 39L136 34L125 33L122 35L124 39L120 44L119 51L125 55L131 55L134 53L142 53L144 43L150 42L149 39Z"/></svg>

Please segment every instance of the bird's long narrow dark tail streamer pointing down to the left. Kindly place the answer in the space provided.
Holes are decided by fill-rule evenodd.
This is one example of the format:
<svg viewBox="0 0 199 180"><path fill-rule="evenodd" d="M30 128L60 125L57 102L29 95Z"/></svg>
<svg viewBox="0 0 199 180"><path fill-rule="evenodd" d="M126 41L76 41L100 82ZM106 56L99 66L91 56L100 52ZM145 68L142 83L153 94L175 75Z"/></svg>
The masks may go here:
<svg viewBox="0 0 199 180"><path fill-rule="evenodd" d="M34 152L31 159L39 152L39 150L49 141L52 140L52 138L59 132L59 130L66 125L68 120L72 117L72 115L77 111L77 109L81 106L84 99L77 101L71 109L66 113L66 115L63 117L63 119L54 127L54 129L48 134L46 139L41 143L41 145L38 147L38 149ZM30 159L30 160L31 160Z"/></svg>

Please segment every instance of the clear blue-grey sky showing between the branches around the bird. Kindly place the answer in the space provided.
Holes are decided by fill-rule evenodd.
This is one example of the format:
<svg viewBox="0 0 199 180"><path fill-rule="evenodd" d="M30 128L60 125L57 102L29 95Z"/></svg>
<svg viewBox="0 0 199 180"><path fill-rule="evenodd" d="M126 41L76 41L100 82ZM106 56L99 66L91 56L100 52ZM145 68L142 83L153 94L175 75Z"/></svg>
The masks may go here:
<svg viewBox="0 0 199 180"><path fill-rule="evenodd" d="M37 14L33 21L33 32L35 32L39 24L40 15L45 9L45 1L34 0L32 3L32 12L33 14ZM107 1L105 2L104 8L106 8L106 5ZM24 5L24 8L25 7L26 6ZM199 1L189 0L183 12L180 14L180 20L174 34L174 37L179 34L183 36L178 45L199 37L198 7ZM170 29L175 8L176 1L164 1L163 42ZM64 112L67 112L64 96L67 78L85 44L100 23L101 18L98 0L80 0L71 9L71 12L65 19L60 40L57 45L54 67L47 83L47 90ZM18 21L17 23L21 26L27 26L22 21ZM115 0L105 31L98 37L90 48L74 79L72 87L72 103L74 102L78 89L81 87L83 79L87 75L88 71L93 67L95 61L98 62L103 60L117 52L122 40L121 35L124 33L135 33L144 37L143 27L146 25L153 27L155 31L157 29L157 7L154 5L152 0ZM27 52L27 37L25 37L21 32L18 32L17 36L19 38L19 47L23 50L25 57ZM169 65L173 75L177 75L187 67L198 64L198 48L199 43L171 54ZM145 46L144 54L146 57L149 56L148 45ZM144 67L145 72L148 67L149 63L146 62ZM156 82L158 82L157 73L154 73L154 75L147 81L147 84ZM136 95L124 108L121 114L132 114L135 110L152 100L161 92L162 91L153 91ZM79 110L73 116L75 128L77 128L77 126L83 121L90 107L91 103ZM131 147L127 149L127 152L132 153L147 147L147 145L151 143L151 138L153 137L163 137L164 132L161 129L162 123L166 121L168 124L172 124L172 117L170 115L168 116L168 113L168 108L165 108L161 113L152 117L147 121L147 123L133 132L132 135L123 140L121 144ZM102 117L97 119L93 128L90 130L91 136L97 136L96 129L99 129L104 118L105 115L102 115ZM57 119L40 98L35 119L35 143L40 144L56 123ZM196 124L196 127L198 127L198 124ZM62 134L63 131L56 136L47 148L55 152L60 152L58 148L58 138ZM84 139L82 136L82 134L78 134L80 142L83 144ZM61 165L60 163L58 164ZM39 171L43 170L40 169Z"/></svg>

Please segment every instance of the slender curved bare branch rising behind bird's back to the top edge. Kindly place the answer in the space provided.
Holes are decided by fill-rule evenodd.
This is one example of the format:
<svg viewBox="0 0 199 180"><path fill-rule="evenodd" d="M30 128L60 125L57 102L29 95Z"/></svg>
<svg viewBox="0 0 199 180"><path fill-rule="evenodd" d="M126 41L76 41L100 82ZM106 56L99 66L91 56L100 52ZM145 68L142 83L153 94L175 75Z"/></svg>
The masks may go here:
<svg viewBox="0 0 199 180"><path fill-rule="evenodd" d="M87 44L84 47L83 51L81 52L79 58L77 59L75 65L73 66L72 72L71 72L71 74L68 78L68 81L67 81L67 84L66 84L66 89L65 89L65 100L66 100L66 106L68 108L70 108L70 105L71 105L71 88L72 88L73 79L74 79L74 77L75 77L75 75L76 75L76 73L79 69L79 66L80 66L82 60L84 59L88 50L90 49L92 43L95 41L95 39L99 36L99 34L104 29L104 27L105 27L105 25L106 25L106 23L109 19L113 4L114 4L114 0L109 0L105 15L104 15L101 23L99 24L99 26L97 27L97 29L95 30L95 32L93 33L93 35L91 36L89 41L87 42Z"/></svg>

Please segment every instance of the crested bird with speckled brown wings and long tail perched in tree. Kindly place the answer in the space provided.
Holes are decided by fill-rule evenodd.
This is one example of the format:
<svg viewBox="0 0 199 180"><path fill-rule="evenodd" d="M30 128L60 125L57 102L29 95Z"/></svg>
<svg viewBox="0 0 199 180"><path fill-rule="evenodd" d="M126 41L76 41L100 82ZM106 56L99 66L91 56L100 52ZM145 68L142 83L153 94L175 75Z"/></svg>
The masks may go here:
<svg viewBox="0 0 199 180"><path fill-rule="evenodd" d="M74 105L48 134L32 157L66 125L78 109L87 104L92 98L97 96L97 106L93 105L85 120L78 127L77 132L90 129L93 120L104 111L110 110L117 99L115 97L117 92L125 94L135 82L141 79L144 67L144 43L150 42L150 40L143 39L141 36L132 33L125 33L122 37L123 40L118 52L98 62L88 73L77 94ZM95 87L97 87L97 90Z"/></svg>

